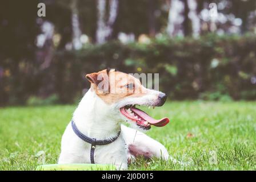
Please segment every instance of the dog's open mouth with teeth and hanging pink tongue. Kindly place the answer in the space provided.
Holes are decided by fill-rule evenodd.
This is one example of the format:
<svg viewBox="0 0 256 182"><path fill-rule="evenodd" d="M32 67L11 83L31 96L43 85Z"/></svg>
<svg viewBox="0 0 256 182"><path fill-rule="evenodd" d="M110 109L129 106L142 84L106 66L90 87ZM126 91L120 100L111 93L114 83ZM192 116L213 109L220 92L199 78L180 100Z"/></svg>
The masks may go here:
<svg viewBox="0 0 256 182"><path fill-rule="evenodd" d="M168 118L162 118L158 120L151 118L144 111L131 105L121 107L120 111L126 118L136 122L137 125L144 130L149 130L151 128L151 125L162 127L169 123Z"/></svg>

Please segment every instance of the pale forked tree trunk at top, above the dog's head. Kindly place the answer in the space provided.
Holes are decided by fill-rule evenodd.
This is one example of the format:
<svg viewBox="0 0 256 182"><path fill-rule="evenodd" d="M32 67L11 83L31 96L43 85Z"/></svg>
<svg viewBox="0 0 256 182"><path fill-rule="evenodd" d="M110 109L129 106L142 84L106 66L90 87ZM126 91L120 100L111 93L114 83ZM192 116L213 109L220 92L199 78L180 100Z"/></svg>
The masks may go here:
<svg viewBox="0 0 256 182"><path fill-rule="evenodd" d="M109 18L105 22L106 0L97 1L98 22L96 31L96 42L98 44L105 43L113 34L113 25L118 14L118 0L110 0L109 2Z"/></svg>

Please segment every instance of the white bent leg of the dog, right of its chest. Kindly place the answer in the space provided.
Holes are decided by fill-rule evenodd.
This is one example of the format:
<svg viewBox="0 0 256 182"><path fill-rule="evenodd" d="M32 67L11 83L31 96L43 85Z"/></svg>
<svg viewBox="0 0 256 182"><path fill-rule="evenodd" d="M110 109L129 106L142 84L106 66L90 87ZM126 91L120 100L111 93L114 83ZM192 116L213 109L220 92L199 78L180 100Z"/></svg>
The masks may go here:
<svg viewBox="0 0 256 182"><path fill-rule="evenodd" d="M127 148L127 158L131 160L139 155L145 158L153 156L164 160L169 159L168 151L165 146L146 134L122 125L122 134Z"/></svg>

